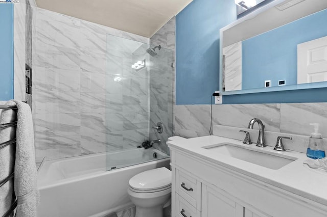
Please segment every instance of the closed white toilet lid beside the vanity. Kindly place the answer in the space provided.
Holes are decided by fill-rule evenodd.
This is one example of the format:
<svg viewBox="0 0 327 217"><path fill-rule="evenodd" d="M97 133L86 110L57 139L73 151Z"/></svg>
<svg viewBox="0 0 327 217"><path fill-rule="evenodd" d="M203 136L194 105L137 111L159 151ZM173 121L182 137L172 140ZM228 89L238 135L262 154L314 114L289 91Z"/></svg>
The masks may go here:
<svg viewBox="0 0 327 217"><path fill-rule="evenodd" d="M148 170L133 176L129 186L137 190L153 190L172 184L172 172L165 167Z"/></svg>

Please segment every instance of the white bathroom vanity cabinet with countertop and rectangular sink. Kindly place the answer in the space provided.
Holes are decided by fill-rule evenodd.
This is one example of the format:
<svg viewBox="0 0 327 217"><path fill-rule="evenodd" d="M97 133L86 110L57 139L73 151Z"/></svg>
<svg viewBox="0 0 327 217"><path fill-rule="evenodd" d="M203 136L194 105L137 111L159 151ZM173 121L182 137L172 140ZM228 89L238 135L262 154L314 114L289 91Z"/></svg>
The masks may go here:
<svg viewBox="0 0 327 217"><path fill-rule="evenodd" d="M172 216L327 216L327 173L304 166L304 153L215 135L167 144Z"/></svg>

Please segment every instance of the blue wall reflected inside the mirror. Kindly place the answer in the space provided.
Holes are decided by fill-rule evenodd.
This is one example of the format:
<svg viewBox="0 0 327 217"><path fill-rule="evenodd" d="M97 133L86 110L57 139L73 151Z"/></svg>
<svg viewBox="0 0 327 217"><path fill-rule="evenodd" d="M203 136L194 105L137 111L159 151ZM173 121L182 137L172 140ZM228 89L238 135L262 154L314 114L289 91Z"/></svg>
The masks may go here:
<svg viewBox="0 0 327 217"><path fill-rule="evenodd" d="M297 44L327 36L327 10L242 42L242 89L297 84Z"/></svg>

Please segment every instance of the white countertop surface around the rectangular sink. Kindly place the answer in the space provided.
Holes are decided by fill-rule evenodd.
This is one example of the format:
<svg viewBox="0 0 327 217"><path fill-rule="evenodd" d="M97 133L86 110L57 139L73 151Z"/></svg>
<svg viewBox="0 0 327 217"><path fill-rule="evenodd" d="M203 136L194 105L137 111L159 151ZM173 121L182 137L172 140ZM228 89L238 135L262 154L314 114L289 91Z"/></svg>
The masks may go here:
<svg viewBox="0 0 327 217"><path fill-rule="evenodd" d="M273 170L202 148L220 143L233 143L270 153L296 157L298 159L281 169ZM311 169L307 165L303 165L303 161L308 159L306 154L289 150L284 152L275 151L269 146L260 148L256 147L254 143L252 145L245 145L239 140L218 137L216 135L169 141L167 144L170 148L194 154L218 165L327 206L327 172Z"/></svg>

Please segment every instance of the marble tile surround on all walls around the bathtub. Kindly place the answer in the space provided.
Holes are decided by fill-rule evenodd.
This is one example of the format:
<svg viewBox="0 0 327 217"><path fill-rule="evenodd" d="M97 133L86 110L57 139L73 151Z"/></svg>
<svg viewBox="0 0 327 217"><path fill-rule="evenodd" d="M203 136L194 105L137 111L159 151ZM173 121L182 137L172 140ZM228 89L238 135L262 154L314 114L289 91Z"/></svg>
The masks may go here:
<svg viewBox="0 0 327 217"><path fill-rule="evenodd" d="M26 40L20 36L25 35L26 30L26 4L21 3L14 8L15 99L25 100ZM162 49L161 54L158 52L151 60L148 55L154 67L148 67L144 76L138 73L124 77L121 85L115 86L112 80L106 80L106 34L147 44L149 38L40 9L34 1L31 7L32 107L37 161L44 156L56 159L104 152L106 139L107 150L134 147L135 143L148 140L149 133L150 140L162 140L161 146L156 148L168 152L166 140L172 135L175 98L175 74L170 67L171 63L174 65L172 51ZM175 18L150 40L153 45L174 50ZM139 49L144 53L147 48ZM155 62L164 53L160 58L166 65L161 60ZM137 59L136 50L133 58ZM130 61L134 61L133 58ZM115 74L109 73L107 78L113 79ZM108 111L106 82L110 83ZM123 94L127 91L133 94ZM120 110L121 114L117 115L114 110ZM107 128L106 112L110 119ZM149 131L149 120L151 126L161 121L166 131L160 135L152 128Z"/></svg>

